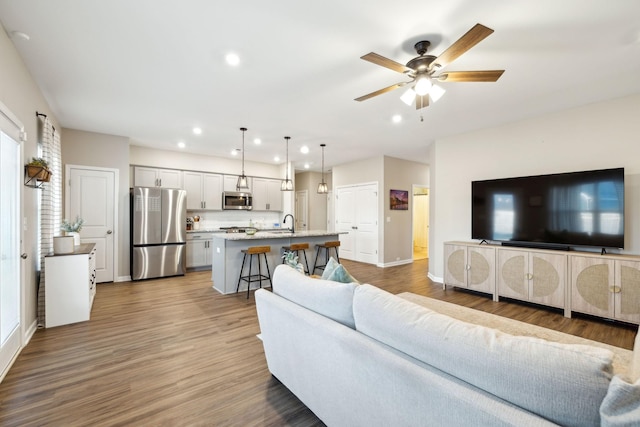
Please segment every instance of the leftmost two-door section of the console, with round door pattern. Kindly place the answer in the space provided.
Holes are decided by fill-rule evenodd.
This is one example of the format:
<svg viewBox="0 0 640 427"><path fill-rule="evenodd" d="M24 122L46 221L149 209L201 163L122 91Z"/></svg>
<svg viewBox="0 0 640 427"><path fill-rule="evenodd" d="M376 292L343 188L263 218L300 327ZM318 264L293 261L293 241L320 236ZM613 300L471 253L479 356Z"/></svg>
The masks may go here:
<svg viewBox="0 0 640 427"><path fill-rule="evenodd" d="M444 284L495 296L496 249L479 244L445 243Z"/></svg>

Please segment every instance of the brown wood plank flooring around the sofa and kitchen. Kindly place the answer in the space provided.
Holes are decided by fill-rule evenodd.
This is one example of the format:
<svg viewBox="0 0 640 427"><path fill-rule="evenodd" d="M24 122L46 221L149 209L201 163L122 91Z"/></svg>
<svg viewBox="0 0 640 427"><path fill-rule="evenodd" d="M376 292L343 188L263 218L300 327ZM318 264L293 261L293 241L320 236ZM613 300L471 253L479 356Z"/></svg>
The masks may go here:
<svg viewBox="0 0 640 427"><path fill-rule="evenodd" d="M359 280L632 348L636 326L433 284L428 260ZM323 425L268 372L253 294L220 295L210 272L98 285L89 322L36 332L0 384L1 426Z"/></svg>

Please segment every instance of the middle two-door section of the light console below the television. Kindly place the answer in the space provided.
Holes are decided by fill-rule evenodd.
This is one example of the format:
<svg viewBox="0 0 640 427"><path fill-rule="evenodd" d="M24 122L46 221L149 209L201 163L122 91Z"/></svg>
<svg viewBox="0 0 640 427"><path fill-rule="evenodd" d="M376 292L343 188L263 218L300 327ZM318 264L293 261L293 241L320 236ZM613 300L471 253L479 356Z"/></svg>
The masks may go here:
<svg viewBox="0 0 640 427"><path fill-rule="evenodd" d="M567 255L531 249L498 249L498 295L565 307Z"/></svg>

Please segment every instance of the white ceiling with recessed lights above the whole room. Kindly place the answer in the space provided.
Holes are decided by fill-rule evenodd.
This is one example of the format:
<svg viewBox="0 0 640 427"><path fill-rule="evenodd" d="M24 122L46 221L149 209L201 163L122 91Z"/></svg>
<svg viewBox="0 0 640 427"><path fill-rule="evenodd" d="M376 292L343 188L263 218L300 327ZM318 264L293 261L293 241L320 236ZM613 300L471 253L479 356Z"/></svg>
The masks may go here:
<svg viewBox="0 0 640 427"><path fill-rule="evenodd" d="M326 168L428 163L438 138L640 92L637 0L0 0L0 21L63 127L231 157L245 126L247 160L284 159L290 135L297 169L320 169L321 143ZM437 56L476 23L495 32L445 70L498 82L443 83L418 112L403 89L354 101L406 80L360 56L404 64L423 39Z"/></svg>

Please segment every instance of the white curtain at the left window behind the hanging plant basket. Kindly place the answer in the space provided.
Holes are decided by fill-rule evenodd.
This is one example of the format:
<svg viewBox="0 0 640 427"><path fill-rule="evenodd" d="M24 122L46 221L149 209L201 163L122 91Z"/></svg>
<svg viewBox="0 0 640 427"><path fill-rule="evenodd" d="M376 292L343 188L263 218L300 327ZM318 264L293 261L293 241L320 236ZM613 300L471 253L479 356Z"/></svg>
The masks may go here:
<svg viewBox="0 0 640 427"><path fill-rule="evenodd" d="M38 288L38 326L45 325L45 271L44 256L53 252L53 236L58 236L62 223L62 156L60 133L46 117L38 126L41 157L49 163L51 180L42 184L40 191L40 283Z"/></svg>

